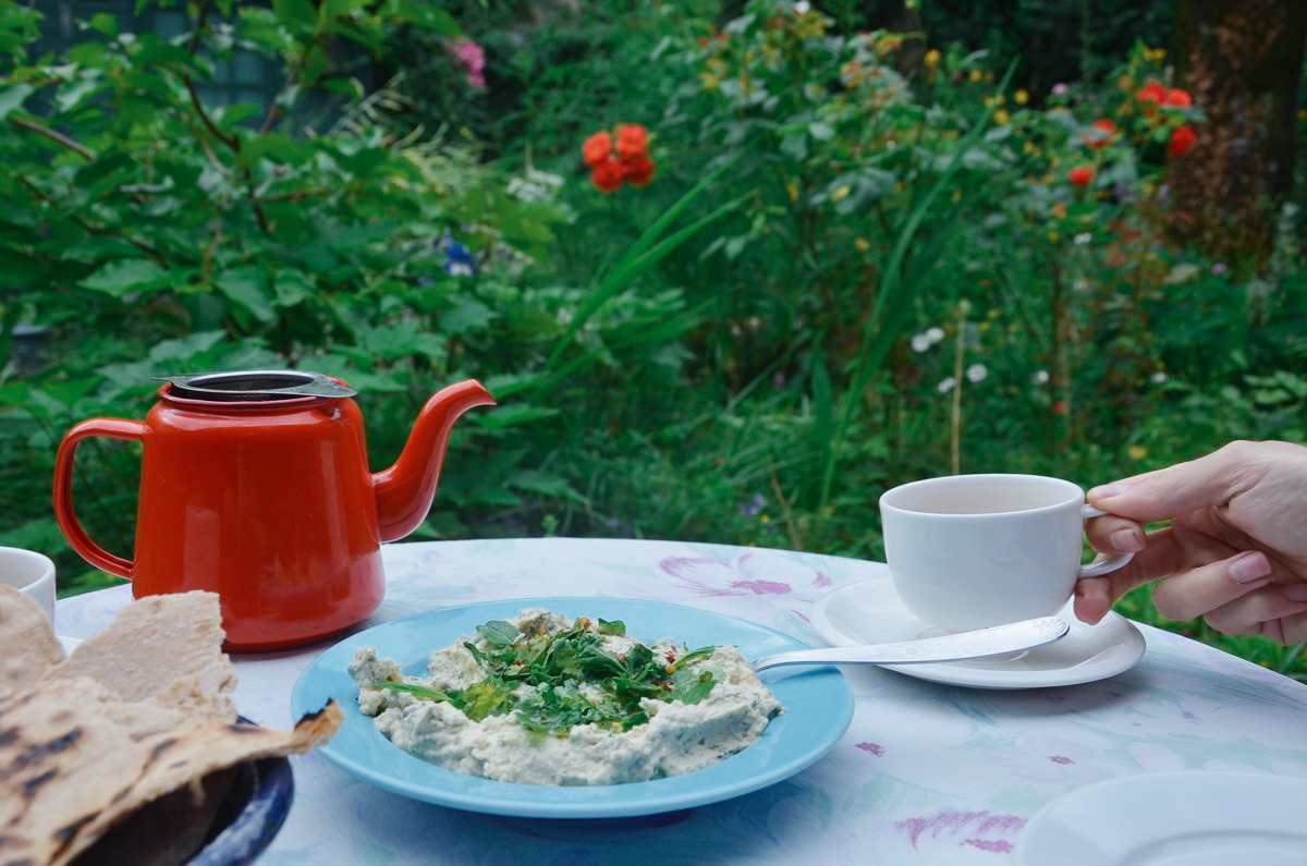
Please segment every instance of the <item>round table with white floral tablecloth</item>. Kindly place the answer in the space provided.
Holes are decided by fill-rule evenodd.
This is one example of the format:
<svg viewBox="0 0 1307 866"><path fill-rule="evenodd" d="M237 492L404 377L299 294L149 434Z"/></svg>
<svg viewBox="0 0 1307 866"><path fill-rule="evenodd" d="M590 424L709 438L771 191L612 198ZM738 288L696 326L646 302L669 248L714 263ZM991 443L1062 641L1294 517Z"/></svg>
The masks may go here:
<svg viewBox="0 0 1307 866"><path fill-rule="evenodd" d="M886 573L814 553L617 539L404 543L383 557L386 600L358 628L452 604L605 595L702 607L823 645L808 619L813 602ZM129 600L127 586L63 599L58 631L89 637ZM293 756L294 806L260 863L1001 865L1031 815L1091 782L1179 769L1307 777L1307 685L1141 629L1140 665L1084 685L971 689L847 667L856 710L831 753L769 789L665 816L460 812ZM332 642L234 657L239 712L291 726L290 689Z"/></svg>

